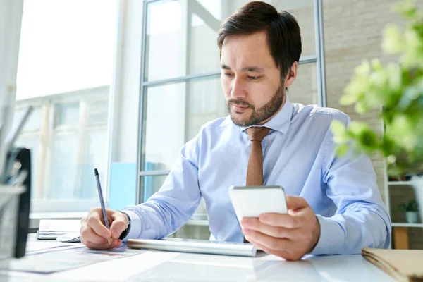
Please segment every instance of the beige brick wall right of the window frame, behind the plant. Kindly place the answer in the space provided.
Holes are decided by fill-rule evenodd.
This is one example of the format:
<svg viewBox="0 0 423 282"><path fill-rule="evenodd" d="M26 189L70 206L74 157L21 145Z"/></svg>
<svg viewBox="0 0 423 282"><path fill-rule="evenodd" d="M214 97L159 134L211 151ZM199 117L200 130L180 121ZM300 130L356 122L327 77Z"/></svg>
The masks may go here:
<svg viewBox="0 0 423 282"><path fill-rule="evenodd" d="M324 48L326 59L326 93L328 106L349 114L355 121L366 121L372 128L381 128L377 111L363 116L355 114L353 107L338 104L345 85L349 82L355 66L362 59L379 58L386 63L396 60L381 51L381 34L386 23L403 25L403 20L391 12L393 0L326 0L323 6ZM419 8L423 8L423 1ZM385 195L386 176L383 159L370 156L374 165L382 197ZM410 188L389 188L390 209L393 222L404 222L405 216L398 212L398 204L414 197ZM410 248L422 249L423 228L409 228Z"/></svg>

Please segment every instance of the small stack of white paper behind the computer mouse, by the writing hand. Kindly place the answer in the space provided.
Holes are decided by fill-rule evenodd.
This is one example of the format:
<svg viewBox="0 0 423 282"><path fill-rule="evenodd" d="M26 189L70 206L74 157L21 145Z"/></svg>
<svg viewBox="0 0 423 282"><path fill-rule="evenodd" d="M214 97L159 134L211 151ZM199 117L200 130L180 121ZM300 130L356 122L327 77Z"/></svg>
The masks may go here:
<svg viewBox="0 0 423 282"><path fill-rule="evenodd" d="M40 219L37 231L38 239L56 239L66 233L79 233L80 220L71 219Z"/></svg>

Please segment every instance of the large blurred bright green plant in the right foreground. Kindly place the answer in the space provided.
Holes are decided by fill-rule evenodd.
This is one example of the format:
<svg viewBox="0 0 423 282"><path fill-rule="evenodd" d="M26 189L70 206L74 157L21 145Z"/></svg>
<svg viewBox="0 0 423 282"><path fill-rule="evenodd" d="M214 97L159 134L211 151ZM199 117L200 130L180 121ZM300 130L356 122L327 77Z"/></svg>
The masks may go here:
<svg viewBox="0 0 423 282"><path fill-rule="evenodd" d="M366 123L352 122L348 128L333 122L336 152L343 155L350 145L356 153L380 152L388 163L388 174L423 171L423 15L415 1L394 7L407 21L403 31L386 25L384 53L398 55L399 62L383 66L378 59L355 68L341 97L343 105L355 104L359 114L380 111L384 133Z"/></svg>

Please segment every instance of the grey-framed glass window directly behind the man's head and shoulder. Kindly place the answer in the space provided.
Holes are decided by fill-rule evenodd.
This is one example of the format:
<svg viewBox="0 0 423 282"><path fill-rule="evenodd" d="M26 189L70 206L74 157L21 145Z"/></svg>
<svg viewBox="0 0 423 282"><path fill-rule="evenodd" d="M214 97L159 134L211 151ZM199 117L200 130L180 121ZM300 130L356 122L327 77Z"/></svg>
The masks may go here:
<svg viewBox="0 0 423 282"><path fill-rule="evenodd" d="M298 78L289 90L290 101L324 106L319 1L267 2L293 13L302 32L302 57ZM216 32L225 18L246 3L145 1L139 202L145 202L160 188L180 147L198 133L202 124L227 115Z"/></svg>

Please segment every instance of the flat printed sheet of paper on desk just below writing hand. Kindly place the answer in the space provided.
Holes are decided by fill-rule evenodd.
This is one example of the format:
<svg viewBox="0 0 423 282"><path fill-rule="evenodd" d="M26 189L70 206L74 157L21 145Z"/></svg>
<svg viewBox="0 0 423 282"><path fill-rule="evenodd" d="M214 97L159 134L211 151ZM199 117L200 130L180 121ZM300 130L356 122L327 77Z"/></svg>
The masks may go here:
<svg viewBox="0 0 423 282"><path fill-rule="evenodd" d="M114 250L94 251L87 247L59 250L56 252L43 252L37 255L27 255L11 262L12 271L25 271L32 273L49 274L56 271L75 269L109 259L117 259L140 254L140 250L130 250L126 247Z"/></svg>

